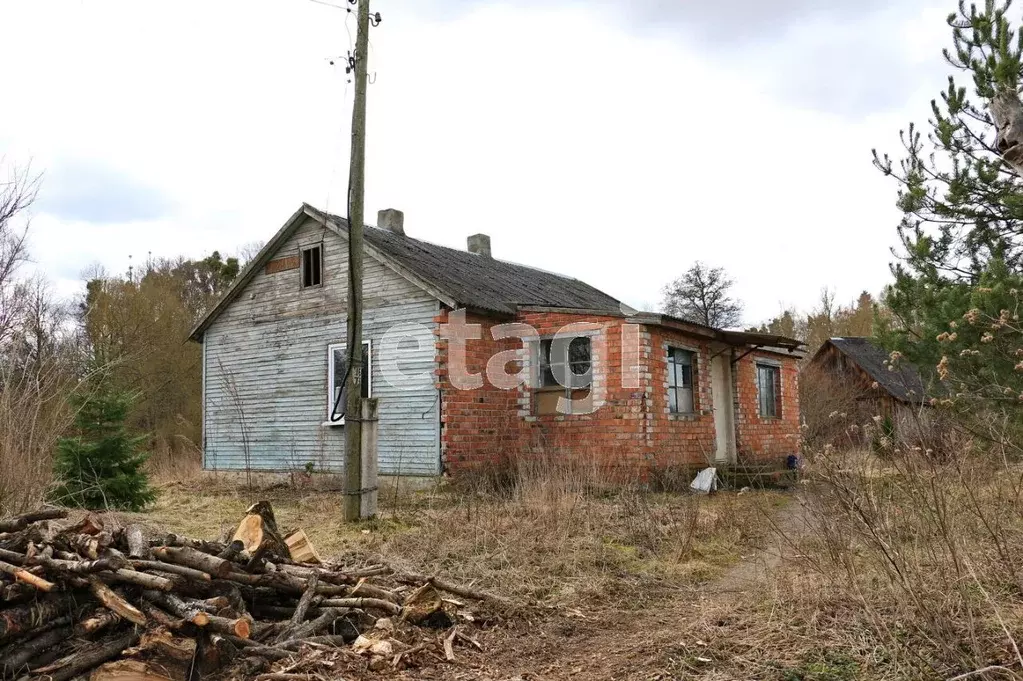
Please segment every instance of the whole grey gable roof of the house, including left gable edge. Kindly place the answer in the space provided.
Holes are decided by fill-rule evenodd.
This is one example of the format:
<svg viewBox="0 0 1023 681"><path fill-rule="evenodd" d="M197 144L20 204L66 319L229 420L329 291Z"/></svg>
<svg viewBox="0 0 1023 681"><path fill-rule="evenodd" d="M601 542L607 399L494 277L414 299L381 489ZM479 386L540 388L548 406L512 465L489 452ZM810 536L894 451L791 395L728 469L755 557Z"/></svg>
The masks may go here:
<svg viewBox="0 0 1023 681"><path fill-rule="evenodd" d="M303 203L238 274L217 304L189 334L199 340L210 324L238 297L246 284L273 258L277 248L306 218L323 224L348 240L348 221ZM621 304L589 284L562 274L495 260L465 251L420 241L366 226L365 255L377 260L451 307L514 315L520 307L539 306L580 311L618 311Z"/></svg>

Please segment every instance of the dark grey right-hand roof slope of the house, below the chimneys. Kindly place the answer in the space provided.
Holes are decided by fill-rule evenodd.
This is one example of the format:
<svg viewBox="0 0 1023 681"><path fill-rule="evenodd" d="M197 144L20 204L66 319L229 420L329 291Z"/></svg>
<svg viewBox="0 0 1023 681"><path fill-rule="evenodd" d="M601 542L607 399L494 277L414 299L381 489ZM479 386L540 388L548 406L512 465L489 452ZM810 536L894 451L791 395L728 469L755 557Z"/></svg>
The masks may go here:
<svg viewBox="0 0 1023 681"><path fill-rule="evenodd" d="M340 216L324 214L339 228ZM370 245L449 293L459 305L514 314L522 306L617 311L620 303L587 283L562 274L449 248L375 227L363 232Z"/></svg>

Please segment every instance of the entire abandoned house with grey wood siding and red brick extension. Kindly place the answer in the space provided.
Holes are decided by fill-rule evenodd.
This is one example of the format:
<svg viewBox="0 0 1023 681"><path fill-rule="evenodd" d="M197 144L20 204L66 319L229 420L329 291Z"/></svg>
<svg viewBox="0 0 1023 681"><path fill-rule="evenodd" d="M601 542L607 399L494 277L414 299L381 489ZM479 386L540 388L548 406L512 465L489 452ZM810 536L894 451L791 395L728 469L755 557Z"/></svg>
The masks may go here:
<svg viewBox="0 0 1023 681"><path fill-rule="evenodd" d="M379 400L381 472L798 450L798 340L634 313L490 248L483 234L468 251L406 236L398 211L365 230L362 392ZM205 467L342 468L347 249L346 221L304 205L193 330Z"/></svg>

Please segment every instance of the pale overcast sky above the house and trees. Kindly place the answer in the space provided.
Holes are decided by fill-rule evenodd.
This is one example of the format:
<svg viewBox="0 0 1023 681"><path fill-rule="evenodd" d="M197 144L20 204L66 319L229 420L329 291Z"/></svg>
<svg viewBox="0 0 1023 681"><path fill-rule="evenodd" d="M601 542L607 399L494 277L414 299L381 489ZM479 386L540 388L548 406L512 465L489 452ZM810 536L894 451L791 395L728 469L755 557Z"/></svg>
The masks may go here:
<svg viewBox="0 0 1023 681"><path fill-rule="evenodd" d="M345 5L345 0L332 0ZM746 321L888 280L872 147L926 121L952 0L374 0L367 218L571 274L638 308L696 260ZM354 15L311 0L0 0L0 155L44 173L33 255L267 240L344 213Z"/></svg>

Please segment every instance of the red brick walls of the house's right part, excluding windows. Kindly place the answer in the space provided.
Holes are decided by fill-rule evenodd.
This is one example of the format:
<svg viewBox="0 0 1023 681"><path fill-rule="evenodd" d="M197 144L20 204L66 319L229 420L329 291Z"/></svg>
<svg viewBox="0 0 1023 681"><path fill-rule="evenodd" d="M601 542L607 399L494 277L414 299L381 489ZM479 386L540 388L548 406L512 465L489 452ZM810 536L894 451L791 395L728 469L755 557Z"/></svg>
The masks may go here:
<svg viewBox="0 0 1023 681"><path fill-rule="evenodd" d="M447 320L447 312L438 322ZM533 392L525 387L502 390L486 378L487 362L496 353L519 350L507 373L518 371L529 356L518 338L494 340L491 329L502 323L480 315L466 315L468 323L481 326L482 337L466 342L466 368L483 374L484 384L470 391L456 390L449 376L448 343L437 345L441 391L441 449L449 472L498 463L509 457L536 454L586 457L601 463L634 466L702 465L713 459L714 417L710 383L711 348L706 339L659 327L638 327L638 355L623 349L622 325L627 320L562 313L522 313L515 321L525 322L541 336L549 336L567 324L593 322L593 395L603 393L604 406L591 414L536 415ZM603 343L602 343L603 342ZM695 414L668 413L667 345L697 353ZM624 351L624 355L623 355ZM798 391L795 360L786 359L783 369L783 418L762 422L749 417L750 404L756 414L752 356L740 363L736 379L740 387L736 414L740 452L747 456L777 458L785 444L798 439ZM623 371L624 369L624 371ZM626 378L623 380L623 373ZM749 376L747 376L749 373ZM745 387L745 388L744 388ZM750 399L752 397L752 403ZM792 444L784 453L794 451Z"/></svg>

